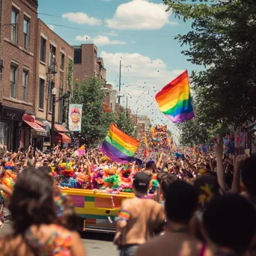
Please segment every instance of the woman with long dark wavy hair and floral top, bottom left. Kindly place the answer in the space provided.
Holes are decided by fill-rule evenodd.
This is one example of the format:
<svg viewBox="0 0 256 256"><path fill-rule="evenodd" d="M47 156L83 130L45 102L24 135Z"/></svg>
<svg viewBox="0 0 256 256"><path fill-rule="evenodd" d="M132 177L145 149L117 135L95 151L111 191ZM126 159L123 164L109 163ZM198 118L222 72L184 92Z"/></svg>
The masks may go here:
<svg viewBox="0 0 256 256"><path fill-rule="evenodd" d="M0 240L0 255L85 255L79 234L56 225L53 180L44 171L18 175L9 209L13 234Z"/></svg>

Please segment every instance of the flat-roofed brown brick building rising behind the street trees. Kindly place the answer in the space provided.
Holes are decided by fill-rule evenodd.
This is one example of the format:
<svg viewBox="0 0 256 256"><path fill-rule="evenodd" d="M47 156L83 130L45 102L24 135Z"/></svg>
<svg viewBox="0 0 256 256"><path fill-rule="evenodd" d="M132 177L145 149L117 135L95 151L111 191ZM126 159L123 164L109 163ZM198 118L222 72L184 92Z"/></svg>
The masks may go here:
<svg viewBox="0 0 256 256"><path fill-rule="evenodd" d="M98 58L97 47L92 43L73 46L74 55L74 79L79 82L91 76L97 76L106 82L106 69L103 58Z"/></svg>

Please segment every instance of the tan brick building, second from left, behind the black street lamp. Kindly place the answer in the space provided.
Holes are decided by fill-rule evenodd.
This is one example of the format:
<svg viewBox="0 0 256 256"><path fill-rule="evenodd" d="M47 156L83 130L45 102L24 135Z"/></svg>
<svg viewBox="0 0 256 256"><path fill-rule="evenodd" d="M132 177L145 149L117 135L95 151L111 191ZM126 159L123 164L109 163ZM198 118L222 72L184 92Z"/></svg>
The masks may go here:
<svg viewBox="0 0 256 256"><path fill-rule="evenodd" d="M67 121L68 96L73 85L74 49L40 19L38 19L37 27L37 49L34 89L35 116L38 121L45 124L44 128L49 132L52 121L52 88L56 88L55 142L61 140L64 143L70 143L70 138L64 134L64 130L66 130L64 127ZM64 124L63 127L61 124ZM41 126L43 127L42 124ZM34 143L38 147L42 147L42 144L49 146L49 135L46 138L35 135Z"/></svg>

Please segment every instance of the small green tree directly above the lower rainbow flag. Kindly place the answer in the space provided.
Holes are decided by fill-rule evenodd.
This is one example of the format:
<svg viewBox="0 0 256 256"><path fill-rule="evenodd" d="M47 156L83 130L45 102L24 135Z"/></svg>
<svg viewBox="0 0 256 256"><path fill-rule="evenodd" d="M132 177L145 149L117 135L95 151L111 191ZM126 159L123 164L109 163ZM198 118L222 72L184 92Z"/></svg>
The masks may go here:
<svg viewBox="0 0 256 256"><path fill-rule="evenodd" d="M132 137L136 137L135 124L132 123L132 118L127 115L127 112L123 107L121 107L120 113L118 115L117 126L126 134Z"/></svg>

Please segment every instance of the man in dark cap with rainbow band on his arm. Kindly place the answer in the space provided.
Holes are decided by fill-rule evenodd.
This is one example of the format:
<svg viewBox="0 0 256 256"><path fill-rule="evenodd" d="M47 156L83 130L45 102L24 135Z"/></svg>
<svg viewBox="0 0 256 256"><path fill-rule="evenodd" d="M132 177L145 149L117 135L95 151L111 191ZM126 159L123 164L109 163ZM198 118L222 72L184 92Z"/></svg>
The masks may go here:
<svg viewBox="0 0 256 256"><path fill-rule="evenodd" d="M138 246L161 232L165 214L161 204L147 197L150 177L138 172L133 180L135 198L125 200L118 213L114 243L121 256L135 255Z"/></svg>

